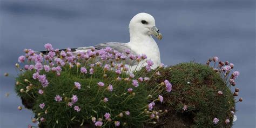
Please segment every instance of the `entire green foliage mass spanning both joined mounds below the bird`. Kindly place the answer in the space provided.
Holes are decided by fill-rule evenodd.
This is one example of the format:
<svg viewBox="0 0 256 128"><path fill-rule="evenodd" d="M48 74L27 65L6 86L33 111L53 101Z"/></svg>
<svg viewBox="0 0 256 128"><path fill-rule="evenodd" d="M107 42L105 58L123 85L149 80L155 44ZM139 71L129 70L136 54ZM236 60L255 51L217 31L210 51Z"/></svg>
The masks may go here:
<svg viewBox="0 0 256 128"><path fill-rule="evenodd" d="M79 69L79 68L78 68ZM15 89L17 95L23 99L32 102L32 110L36 118L45 118L45 122L39 124L41 127L71 127L73 124L83 125L91 124L92 117L103 119L104 127L114 127L114 121L120 121L125 127L143 127L145 122L151 122L149 115L152 112L145 111L147 104L156 99L158 95L164 97L164 103L156 102L154 110L168 110L168 113L162 114L157 125L165 127L231 127L233 115L232 107L235 106L233 94L224 80L212 68L197 63L181 63L167 68L157 68L151 72L146 72L145 68L134 72L137 79L139 75L150 77L147 83L139 83L138 87L132 86L131 79L127 73L117 75L113 71L104 71L100 66L95 66L95 73L82 74L77 67L69 68L64 66L60 76L55 72L44 72L50 84L42 87L38 80L32 78L35 71L25 71L16 81ZM87 70L89 67L87 67ZM156 75L156 72L160 75ZM107 76L104 77L104 74ZM121 77L122 80L117 80ZM24 81L24 79L28 79ZM169 80L172 84L171 93L163 91L160 88L164 80ZM74 82L79 82L82 87L76 89ZM105 86L100 87L98 82L103 82ZM109 84L113 85L113 91L107 90ZM26 92L26 90L29 91ZM158 88L159 86L159 88ZM127 92L127 88L132 87L134 93ZM24 89L25 92L21 92ZM44 90L43 95L38 90ZM219 95L222 91L223 95ZM55 101L55 96L60 95L63 100ZM68 106L72 95L78 97L78 102L74 105L80 107L77 112L73 107ZM147 97L151 95L152 98ZM109 99L103 102L104 97ZM154 100L156 101L156 100ZM45 104L44 109L39 104ZM73 105L73 106L74 106ZM183 107L187 106L187 110ZM125 114L130 111L130 116ZM107 122L104 113L111 114L111 122ZM123 117L119 117L123 113ZM218 118L218 124L213 124L213 119ZM174 119L175 118L175 119ZM181 118L179 120L179 118ZM225 124L225 120L230 119L230 123ZM167 120L167 121L166 121ZM143 124L144 123L144 124ZM124 125L125 124L125 125ZM146 123L147 124L147 123ZM149 124L147 124L149 125Z"/></svg>

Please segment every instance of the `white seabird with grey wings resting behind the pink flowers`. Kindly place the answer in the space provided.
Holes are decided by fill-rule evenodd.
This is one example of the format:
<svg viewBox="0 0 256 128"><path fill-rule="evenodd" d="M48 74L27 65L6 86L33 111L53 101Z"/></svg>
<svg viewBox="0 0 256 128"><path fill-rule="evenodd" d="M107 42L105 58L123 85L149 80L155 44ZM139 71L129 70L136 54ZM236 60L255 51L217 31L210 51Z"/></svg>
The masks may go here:
<svg viewBox="0 0 256 128"><path fill-rule="evenodd" d="M130 29L130 42L119 43L119 42L108 42L97 44L94 47L99 50L109 46L110 48L117 50L119 52L124 52L126 49L130 49L131 53L134 55L145 54L147 59L151 59L154 63L152 69L156 68L161 64L160 51L157 43L154 41L151 35L162 38L161 33L156 27L154 17L150 14L139 13L135 15L129 24ZM75 48L75 52L84 52L90 47ZM144 63L145 65L145 63ZM131 65L132 70L135 69L135 65Z"/></svg>

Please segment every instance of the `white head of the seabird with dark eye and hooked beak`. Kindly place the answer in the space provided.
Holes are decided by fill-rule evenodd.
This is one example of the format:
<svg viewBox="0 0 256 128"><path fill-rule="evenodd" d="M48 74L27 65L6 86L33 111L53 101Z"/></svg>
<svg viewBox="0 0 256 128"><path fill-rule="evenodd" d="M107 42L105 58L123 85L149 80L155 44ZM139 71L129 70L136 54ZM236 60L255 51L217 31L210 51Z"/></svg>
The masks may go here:
<svg viewBox="0 0 256 128"><path fill-rule="evenodd" d="M150 36L153 35L158 39L162 38L159 29L156 27L156 23L154 21L154 17L150 14L139 13L135 15L129 24L130 34L132 35L145 35Z"/></svg>

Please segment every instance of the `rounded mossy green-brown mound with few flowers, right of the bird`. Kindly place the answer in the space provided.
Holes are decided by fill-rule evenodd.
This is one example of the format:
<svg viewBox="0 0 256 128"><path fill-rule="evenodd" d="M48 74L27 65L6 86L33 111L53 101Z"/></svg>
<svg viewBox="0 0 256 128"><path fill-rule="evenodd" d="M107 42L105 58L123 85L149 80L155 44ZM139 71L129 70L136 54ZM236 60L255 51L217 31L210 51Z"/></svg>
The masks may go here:
<svg viewBox="0 0 256 128"><path fill-rule="evenodd" d="M148 84L149 90L154 87L155 83L161 83L165 79L169 80L172 83L172 92L163 92L165 103L160 107L174 114L166 117L169 118L167 122L172 122L172 117L178 118L178 115L181 115L181 124L169 123L165 126L184 127L183 124L191 120L192 122L187 124L190 127L232 126L231 109L235 105L233 93L223 82L219 73L207 65L193 62L161 68L158 71L161 75L151 78ZM150 76L153 72L156 71L151 71L147 75ZM222 91L223 95L218 95L218 91ZM187 110L183 110L185 105ZM217 125L213 124L215 117L219 119ZM229 124L225 124L226 119L230 119ZM161 121L166 122L166 120ZM161 121L159 124L163 123Z"/></svg>

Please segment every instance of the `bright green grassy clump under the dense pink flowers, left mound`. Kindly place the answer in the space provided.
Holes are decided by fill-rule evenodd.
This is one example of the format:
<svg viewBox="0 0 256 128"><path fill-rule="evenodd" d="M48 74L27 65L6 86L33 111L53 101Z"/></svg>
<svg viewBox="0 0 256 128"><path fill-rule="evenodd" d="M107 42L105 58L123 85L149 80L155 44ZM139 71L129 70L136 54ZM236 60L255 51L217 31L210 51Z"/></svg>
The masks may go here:
<svg viewBox="0 0 256 128"><path fill-rule="evenodd" d="M105 127L113 127L114 121L119 121L126 127L142 127L143 122L149 119L149 116L144 113L147 108L147 91L145 85L140 83L138 87L131 84L131 80L117 80L117 77L129 77L126 73L117 75L113 71L104 71L101 67L96 66L93 75L82 74L77 72L77 67L69 69L63 68L60 76L56 76L54 72L42 72L46 74L50 84L47 87L42 87L38 80L32 78L35 71L25 71L16 80L20 83L16 86L17 95L26 100L35 101L33 104L33 112L36 113L36 118L44 117L45 122L40 126L46 127L70 127L72 124L92 124L92 117L98 120L102 118ZM89 69L89 68L87 68ZM105 74L107 77L103 77ZM25 82L28 79L29 82ZM74 82L79 82L82 86L78 90ZM98 82L103 82L105 85L100 87ZM107 90L109 84L113 85L113 91ZM26 86L31 87L28 92L20 92L21 89L26 91ZM133 92L127 92L127 88L131 87ZM38 93L38 90L44 91L43 95ZM55 96L60 95L63 99L61 102L56 102ZM72 95L78 97L77 105L80 107L80 112L77 112L73 107L68 106L71 102ZM103 102L107 97L108 102ZM39 104L45 104L44 109L39 107ZM46 111L46 112L45 112ZM125 114L125 111L130 111L130 116ZM112 121L107 123L104 114L109 112ZM123 113L123 117L119 116ZM138 116L139 115L139 116Z"/></svg>

